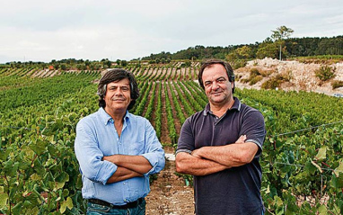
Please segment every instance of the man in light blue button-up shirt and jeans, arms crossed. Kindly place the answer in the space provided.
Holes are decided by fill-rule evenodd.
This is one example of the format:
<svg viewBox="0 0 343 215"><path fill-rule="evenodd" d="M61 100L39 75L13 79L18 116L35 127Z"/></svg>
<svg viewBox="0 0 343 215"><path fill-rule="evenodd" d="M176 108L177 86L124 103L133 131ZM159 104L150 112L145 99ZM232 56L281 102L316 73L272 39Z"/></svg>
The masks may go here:
<svg viewBox="0 0 343 215"><path fill-rule="evenodd" d="M163 148L150 122L128 112L139 95L132 73L109 70L98 94L100 109L76 127L87 214L145 214L149 175L163 169Z"/></svg>

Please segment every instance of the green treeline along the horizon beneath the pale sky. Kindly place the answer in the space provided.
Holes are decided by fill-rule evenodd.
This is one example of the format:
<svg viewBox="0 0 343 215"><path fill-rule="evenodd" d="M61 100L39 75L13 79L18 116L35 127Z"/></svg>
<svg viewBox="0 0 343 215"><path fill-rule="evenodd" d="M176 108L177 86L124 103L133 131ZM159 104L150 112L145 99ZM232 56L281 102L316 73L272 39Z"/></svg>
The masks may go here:
<svg viewBox="0 0 343 215"><path fill-rule="evenodd" d="M282 26L285 27L285 26ZM285 27L286 28L286 27ZM290 29L287 29L290 30ZM292 31L292 30L291 30ZM254 58L298 58L308 56L338 56L343 55L343 35L335 37L306 37L306 38L286 38L278 39L268 37L262 42L254 44L229 45L227 47L205 47L198 45L182 49L175 53L162 51L158 54L151 54L143 58L132 60L111 61L108 58L101 60L89 59L52 59L50 62L20 62L13 61L0 65L2 67L40 67L58 70L101 70L109 67L126 67L128 63L140 65L142 61L149 64L167 64L172 60L201 60L205 58L220 58L233 63L233 67L244 67L245 62ZM190 62L187 62L190 65Z"/></svg>

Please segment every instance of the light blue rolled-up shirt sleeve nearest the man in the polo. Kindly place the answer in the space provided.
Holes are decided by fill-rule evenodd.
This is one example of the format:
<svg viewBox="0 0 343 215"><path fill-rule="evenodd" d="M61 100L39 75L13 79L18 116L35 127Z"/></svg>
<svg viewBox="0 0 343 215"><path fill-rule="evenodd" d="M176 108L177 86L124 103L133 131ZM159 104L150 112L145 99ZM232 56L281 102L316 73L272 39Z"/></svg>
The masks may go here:
<svg viewBox="0 0 343 215"><path fill-rule="evenodd" d="M163 170L165 165L164 150L149 121L145 123L145 154L142 156L153 166L145 175L157 174Z"/></svg>

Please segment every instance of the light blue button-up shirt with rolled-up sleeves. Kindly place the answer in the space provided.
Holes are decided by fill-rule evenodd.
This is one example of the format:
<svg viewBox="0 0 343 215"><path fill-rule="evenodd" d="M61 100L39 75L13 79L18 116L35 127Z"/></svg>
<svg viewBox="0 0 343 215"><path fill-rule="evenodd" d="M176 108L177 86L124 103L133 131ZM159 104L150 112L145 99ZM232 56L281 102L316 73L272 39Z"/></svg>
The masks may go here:
<svg viewBox="0 0 343 215"><path fill-rule="evenodd" d="M107 184L118 166L101 159L117 154L143 156L153 168L144 177ZM149 175L159 173L165 164L162 145L149 121L127 112L119 138L113 119L103 108L77 123L75 155L80 164L84 199L115 205L145 197L150 192Z"/></svg>

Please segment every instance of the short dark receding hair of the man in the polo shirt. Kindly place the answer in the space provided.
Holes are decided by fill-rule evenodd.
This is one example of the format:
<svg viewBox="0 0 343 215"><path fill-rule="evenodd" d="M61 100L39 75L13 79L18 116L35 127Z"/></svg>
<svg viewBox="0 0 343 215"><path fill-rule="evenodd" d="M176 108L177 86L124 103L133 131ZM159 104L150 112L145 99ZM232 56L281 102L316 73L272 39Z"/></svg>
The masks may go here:
<svg viewBox="0 0 343 215"><path fill-rule="evenodd" d="M234 93L233 67L231 67L229 63L227 63L221 59L207 59L206 61L201 63L201 67L200 67L200 70L198 73L198 83L201 86L201 88L205 89L205 85L204 85L204 82L202 80L202 74L204 73L205 68L211 67L214 64L220 64L225 68L226 74L229 77L229 81L233 83L233 93Z"/></svg>

